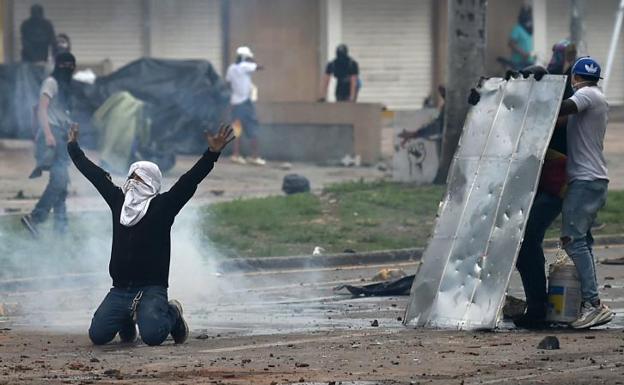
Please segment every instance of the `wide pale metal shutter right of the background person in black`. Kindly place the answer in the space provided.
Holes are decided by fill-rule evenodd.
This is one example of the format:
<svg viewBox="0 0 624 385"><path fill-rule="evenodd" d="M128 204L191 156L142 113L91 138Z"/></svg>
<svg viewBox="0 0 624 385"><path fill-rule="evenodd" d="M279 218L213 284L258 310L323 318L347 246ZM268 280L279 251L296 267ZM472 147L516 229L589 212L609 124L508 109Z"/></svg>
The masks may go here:
<svg viewBox="0 0 624 385"><path fill-rule="evenodd" d="M431 91L431 0L344 0L342 37L360 65L358 101L417 109Z"/></svg>

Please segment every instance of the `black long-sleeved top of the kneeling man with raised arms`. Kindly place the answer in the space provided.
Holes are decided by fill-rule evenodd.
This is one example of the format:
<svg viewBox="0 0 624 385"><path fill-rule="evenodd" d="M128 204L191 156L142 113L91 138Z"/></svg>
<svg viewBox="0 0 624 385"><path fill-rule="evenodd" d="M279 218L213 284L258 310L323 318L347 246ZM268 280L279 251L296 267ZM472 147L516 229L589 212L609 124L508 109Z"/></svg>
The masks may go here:
<svg viewBox="0 0 624 385"><path fill-rule="evenodd" d="M147 213L136 225L126 227L119 223L124 202L121 188L85 156L78 143L69 143L67 151L76 168L95 186L113 214L113 247L108 269L113 286L168 287L171 226L175 216L197 190L197 185L212 170L220 153L207 150L169 191L152 199Z"/></svg>

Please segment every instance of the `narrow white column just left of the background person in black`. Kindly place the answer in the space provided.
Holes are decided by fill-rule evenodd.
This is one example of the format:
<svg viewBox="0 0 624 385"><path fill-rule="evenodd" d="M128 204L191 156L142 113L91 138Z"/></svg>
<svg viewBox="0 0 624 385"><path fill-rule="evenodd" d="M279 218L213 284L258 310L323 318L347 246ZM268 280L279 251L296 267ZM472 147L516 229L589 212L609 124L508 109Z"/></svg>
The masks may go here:
<svg viewBox="0 0 624 385"><path fill-rule="evenodd" d="M322 0L321 1L321 47L319 67L321 69L321 79L325 75L327 62L336 56L336 46L342 41L342 0ZM335 101L334 88L336 82L332 78L327 88L327 101Z"/></svg>

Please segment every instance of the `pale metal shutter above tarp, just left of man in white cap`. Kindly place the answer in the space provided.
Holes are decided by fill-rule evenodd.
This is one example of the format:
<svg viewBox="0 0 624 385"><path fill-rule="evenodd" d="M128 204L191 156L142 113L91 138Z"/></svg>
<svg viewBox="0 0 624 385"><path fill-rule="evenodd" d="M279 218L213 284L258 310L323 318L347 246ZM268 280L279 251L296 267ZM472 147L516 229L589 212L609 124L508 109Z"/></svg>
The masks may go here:
<svg viewBox="0 0 624 385"><path fill-rule="evenodd" d="M205 59L221 71L219 0L152 0L151 6L153 57Z"/></svg>

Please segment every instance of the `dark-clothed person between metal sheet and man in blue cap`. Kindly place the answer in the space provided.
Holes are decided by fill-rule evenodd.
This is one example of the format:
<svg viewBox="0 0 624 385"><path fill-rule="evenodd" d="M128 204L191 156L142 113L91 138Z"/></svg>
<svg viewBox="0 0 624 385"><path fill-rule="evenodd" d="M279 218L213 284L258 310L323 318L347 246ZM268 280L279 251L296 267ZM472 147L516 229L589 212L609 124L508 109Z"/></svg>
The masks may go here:
<svg viewBox="0 0 624 385"><path fill-rule="evenodd" d="M552 52L552 58L546 71L553 75L565 74L568 76L563 93L565 100L574 95L571 70L576 61L576 46L569 40L562 40L553 45ZM538 66L529 67L522 72L525 71L534 74L536 71L545 72L543 68L538 68ZM542 242L546 236L546 230L561 214L565 195L568 153L567 123L567 117L558 119L548 144L537 193L527 220L524 240L516 262L524 286L527 309L523 315L516 317L513 321L516 326L522 328L542 329L548 325L546 322L548 295L544 271L546 259Z"/></svg>

